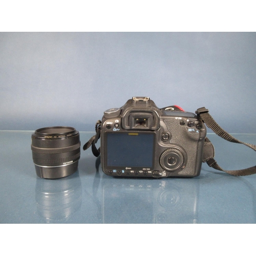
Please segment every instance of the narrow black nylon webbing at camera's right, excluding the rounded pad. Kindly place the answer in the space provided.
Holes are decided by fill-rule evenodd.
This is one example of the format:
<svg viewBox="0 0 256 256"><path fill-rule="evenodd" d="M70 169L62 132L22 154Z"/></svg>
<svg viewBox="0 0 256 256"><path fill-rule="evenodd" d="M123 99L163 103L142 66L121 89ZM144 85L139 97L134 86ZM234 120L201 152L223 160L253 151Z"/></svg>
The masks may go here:
<svg viewBox="0 0 256 256"><path fill-rule="evenodd" d="M198 114L198 116L202 119L202 121L212 130L214 131L218 136L220 136L221 138L233 142L233 143L240 143L240 144L244 144L248 147L250 147L252 150L256 151L256 145L250 144L250 143L245 143L242 142L236 138L234 138L232 135L230 135L229 133L227 133L225 130L223 130L220 125L211 117L211 115L208 113L208 110L203 108L200 108L196 111L196 114ZM209 139L207 138L208 142ZM222 169L216 162L216 160L214 158L210 158L207 161L207 164L212 167L215 168L217 170L221 170L222 172L228 173L230 175L234 175L234 176L246 176L246 175L252 175L252 174L256 174L256 166L253 167L249 167L246 169L240 169L240 170L224 170Z"/></svg>

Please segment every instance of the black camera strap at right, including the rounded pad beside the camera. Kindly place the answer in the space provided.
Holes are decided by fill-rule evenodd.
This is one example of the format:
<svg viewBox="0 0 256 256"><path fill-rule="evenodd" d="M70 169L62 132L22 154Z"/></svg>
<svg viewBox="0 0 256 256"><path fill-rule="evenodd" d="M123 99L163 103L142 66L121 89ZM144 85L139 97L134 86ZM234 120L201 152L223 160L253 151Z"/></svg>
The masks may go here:
<svg viewBox="0 0 256 256"><path fill-rule="evenodd" d="M203 107L203 108L198 109L196 111L196 114L218 136L220 136L221 138L223 138L229 142L244 144L244 145L250 147L252 150L256 151L256 145L253 145L250 143L245 143L245 142L242 142L242 141L234 138L232 135L230 135L225 130L223 130L220 127L220 125L211 117L211 115L208 112L209 111ZM246 169L240 169L240 170L224 170L217 164L214 157L215 157L214 146L212 145L210 140L206 137L205 143L204 143L204 150L203 150L203 162L206 162L212 168L221 170L222 172L225 172L225 173L228 173L228 174L234 175L234 176L246 176L246 175L256 174L256 166L246 168Z"/></svg>

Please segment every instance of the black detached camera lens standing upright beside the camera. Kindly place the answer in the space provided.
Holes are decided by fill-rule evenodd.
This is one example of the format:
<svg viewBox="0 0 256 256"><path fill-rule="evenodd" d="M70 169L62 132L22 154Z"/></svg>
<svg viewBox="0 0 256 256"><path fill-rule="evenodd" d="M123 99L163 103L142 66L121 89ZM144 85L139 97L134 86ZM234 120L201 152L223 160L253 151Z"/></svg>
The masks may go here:
<svg viewBox="0 0 256 256"><path fill-rule="evenodd" d="M32 134L31 150L37 176L46 179L69 176L78 167L79 132L67 126L38 129Z"/></svg>

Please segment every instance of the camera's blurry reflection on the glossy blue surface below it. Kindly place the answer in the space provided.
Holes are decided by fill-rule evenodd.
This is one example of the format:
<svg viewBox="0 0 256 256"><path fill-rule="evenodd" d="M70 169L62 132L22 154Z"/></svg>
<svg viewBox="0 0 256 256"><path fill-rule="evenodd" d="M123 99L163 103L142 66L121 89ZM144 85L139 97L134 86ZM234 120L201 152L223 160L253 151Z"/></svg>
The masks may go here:
<svg viewBox="0 0 256 256"><path fill-rule="evenodd" d="M197 179L108 179L102 195L104 223L198 222Z"/></svg>

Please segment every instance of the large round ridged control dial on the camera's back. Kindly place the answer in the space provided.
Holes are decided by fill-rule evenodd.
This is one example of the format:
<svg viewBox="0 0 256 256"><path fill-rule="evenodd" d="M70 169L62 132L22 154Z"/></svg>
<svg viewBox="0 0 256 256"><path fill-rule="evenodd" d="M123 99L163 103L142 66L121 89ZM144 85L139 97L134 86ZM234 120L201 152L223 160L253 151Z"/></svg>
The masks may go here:
<svg viewBox="0 0 256 256"><path fill-rule="evenodd" d="M184 164L184 155L178 148L168 148L160 156L160 165L163 169L174 171Z"/></svg>

